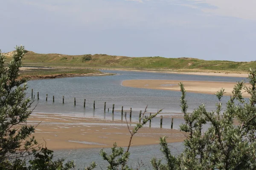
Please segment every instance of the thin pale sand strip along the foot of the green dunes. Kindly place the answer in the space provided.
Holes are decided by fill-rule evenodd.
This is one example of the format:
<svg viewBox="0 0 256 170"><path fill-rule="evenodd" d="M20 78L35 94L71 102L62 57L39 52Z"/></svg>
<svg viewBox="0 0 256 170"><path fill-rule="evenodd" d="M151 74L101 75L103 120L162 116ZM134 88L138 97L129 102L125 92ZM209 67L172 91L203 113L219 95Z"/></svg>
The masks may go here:
<svg viewBox="0 0 256 170"><path fill-rule="evenodd" d="M153 73L168 73L168 74L186 74L198 76L220 76L220 77L244 77L247 78L247 73L227 73L227 72L179 72L179 71L160 71L160 70L129 70L129 69L111 69L118 71L138 71L138 72L153 72Z"/></svg>

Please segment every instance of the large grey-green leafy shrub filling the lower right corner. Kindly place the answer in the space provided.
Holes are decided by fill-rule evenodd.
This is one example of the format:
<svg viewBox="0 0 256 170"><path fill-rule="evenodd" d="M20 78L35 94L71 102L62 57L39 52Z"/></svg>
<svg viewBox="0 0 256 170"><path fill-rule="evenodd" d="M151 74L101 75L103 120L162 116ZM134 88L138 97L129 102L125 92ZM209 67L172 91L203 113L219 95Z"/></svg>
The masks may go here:
<svg viewBox="0 0 256 170"><path fill-rule="evenodd" d="M174 157L167 147L165 137L160 138L161 150L167 164L152 159L154 170L255 170L256 169L256 71L250 70L250 87L238 82L233 96L223 111L221 98L224 90L218 91L216 110L207 112L204 105L187 113L185 89L182 92L181 108L185 124L180 130L187 133L183 142L184 151ZM250 99L242 97L242 90ZM223 112L222 112L223 111ZM234 125L234 122L238 125ZM209 128L202 133L202 127Z"/></svg>

